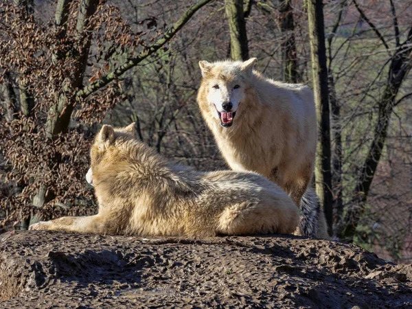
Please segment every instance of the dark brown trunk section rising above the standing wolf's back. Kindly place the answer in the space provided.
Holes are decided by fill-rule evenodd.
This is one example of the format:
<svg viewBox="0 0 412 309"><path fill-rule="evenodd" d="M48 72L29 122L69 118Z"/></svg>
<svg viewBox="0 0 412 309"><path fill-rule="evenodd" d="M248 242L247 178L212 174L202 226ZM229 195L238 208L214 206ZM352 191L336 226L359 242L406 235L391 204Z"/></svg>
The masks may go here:
<svg viewBox="0 0 412 309"><path fill-rule="evenodd" d="M293 9L290 6L290 2L291 0L282 0L279 5L280 30L282 31L282 58L285 82L296 83L299 80L299 74L297 72L295 23L293 22Z"/></svg>

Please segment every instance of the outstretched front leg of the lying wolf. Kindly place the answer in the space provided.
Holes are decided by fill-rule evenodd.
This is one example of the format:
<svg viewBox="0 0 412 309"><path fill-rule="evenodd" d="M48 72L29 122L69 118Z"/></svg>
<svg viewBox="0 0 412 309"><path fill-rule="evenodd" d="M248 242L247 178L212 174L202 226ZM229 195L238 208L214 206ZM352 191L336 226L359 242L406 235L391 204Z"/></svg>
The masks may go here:
<svg viewBox="0 0 412 309"><path fill-rule="evenodd" d="M30 230L75 231L80 233L105 233L105 220L99 215L87 217L62 217L30 225Z"/></svg>

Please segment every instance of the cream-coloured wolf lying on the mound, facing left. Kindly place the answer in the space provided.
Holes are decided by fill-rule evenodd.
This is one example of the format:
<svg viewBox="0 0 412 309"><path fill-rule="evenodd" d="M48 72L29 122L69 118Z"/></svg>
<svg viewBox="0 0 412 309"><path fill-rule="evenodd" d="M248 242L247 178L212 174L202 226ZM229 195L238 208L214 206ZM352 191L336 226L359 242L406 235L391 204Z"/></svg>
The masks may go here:
<svg viewBox="0 0 412 309"><path fill-rule="evenodd" d="M91 146L95 216L38 222L49 229L135 236L293 233L299 215L280 187L253 172L196 172L163 159L133 135L104 125Z"/></svg>

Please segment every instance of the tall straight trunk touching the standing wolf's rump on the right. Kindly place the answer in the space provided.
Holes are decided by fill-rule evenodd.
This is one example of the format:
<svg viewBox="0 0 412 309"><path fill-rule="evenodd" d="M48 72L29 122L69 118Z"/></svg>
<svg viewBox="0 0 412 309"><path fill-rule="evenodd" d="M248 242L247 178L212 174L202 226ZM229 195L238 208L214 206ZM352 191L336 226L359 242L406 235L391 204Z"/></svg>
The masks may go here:
<svg viewBox="0 0 412 309"><path fill-rule="evenodd" d="M314 101L317 107L319 140L315 162L316 192L325 211L328 233L332 235L332 174L330 169L330 119L328 67L321 0L306 0L310 54L312 59Z"/></svg>

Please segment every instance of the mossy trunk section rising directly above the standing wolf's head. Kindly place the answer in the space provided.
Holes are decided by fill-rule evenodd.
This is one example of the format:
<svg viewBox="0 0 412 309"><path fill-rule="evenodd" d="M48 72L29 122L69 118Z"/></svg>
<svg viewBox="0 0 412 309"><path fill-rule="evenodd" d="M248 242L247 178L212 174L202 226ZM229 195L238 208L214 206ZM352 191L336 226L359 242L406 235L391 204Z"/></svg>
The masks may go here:
<svg viewBox="0 0 412 309"><path fill-rule="evenodd" d="M229 23L231 58L240 61L248 60L249 48L243 0L225 0L225 12Z"/></svg>

